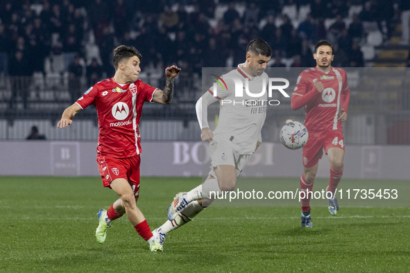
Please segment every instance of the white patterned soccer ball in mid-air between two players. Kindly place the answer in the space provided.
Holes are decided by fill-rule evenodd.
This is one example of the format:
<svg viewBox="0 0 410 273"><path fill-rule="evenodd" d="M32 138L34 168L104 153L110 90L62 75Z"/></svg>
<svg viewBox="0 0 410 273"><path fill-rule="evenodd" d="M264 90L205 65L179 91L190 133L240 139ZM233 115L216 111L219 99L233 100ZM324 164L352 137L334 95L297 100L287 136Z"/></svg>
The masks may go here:
<svg viewBox="0 0 410 273"><path fill-rule="evenodd" d="M298 121L288 122L280 130L280 141L291 150L305 146L308 136L305 125Z"/></svg>

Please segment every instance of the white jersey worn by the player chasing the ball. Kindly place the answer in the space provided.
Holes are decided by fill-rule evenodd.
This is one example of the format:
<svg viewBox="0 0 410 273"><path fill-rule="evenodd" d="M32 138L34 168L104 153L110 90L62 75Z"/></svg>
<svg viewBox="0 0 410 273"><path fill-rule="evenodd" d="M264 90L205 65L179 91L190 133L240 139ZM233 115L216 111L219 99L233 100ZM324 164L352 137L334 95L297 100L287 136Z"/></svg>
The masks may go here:
<svg viewBox="0 0 410 273"><path fill-rule="evenodd" d="M220 100L219 122L214 130L214 139L231 141L241 155L252 154L257 141L262 141L268 75L262 73L261 76L252 77L239 64L237 69L221 78L225 85L217 85L216 90L209 89Z"/></svg>

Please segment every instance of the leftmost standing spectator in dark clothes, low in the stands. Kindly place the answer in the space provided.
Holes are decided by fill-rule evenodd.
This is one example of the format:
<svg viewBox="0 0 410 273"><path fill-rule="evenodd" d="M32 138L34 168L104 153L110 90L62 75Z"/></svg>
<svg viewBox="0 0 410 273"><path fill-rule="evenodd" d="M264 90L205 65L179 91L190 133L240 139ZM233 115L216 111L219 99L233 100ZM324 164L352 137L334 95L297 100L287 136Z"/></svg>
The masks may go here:
<svg viewBox="0 0 410 273"><path fill-rule="evenodd" d="M33 70L28 63L28 57L22 51L15 51L8 64L8 73L10 75L11 98L9 107L15 107L17 96L23 101L24 109L27 109L28 88L30 87Z"/></svg>

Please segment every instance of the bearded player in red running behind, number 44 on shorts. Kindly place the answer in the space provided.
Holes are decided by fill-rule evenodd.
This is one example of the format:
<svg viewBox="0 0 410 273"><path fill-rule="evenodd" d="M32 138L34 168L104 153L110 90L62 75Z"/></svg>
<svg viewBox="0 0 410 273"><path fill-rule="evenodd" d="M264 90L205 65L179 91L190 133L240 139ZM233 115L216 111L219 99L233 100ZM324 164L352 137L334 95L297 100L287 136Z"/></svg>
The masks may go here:
<svg viewBox="0 0 410 273"><path fill-rule="evenodd" d="M309 132L309 140L302 148L304 168L300 189L307 193L302 199L302 227L312 226L309 201L323 149L330 161L328 209L332 215L339 211L335 192L343 175L342 123L348 119L350 91L346 72L331 66L333 58L332 44L325 40L318 42L314 53L316 67L300 73L291 98L293 110L305 107L305 126Z"/></svg>

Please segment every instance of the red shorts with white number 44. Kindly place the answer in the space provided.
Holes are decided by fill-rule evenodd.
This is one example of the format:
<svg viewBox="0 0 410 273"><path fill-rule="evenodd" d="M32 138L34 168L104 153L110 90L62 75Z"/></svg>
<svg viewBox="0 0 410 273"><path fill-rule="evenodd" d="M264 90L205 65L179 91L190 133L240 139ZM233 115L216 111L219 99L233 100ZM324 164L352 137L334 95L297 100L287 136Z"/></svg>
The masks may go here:
<svg viewBox="0 0 410 273"><path fill-rule="evenodd" d="M303 146L303 166L311 168L315 166L323 156L323 149L327 155L327 150L337 147L345 150L345 138L340 130L332 130L327 134L309 134L309 139Z"/></svg>

